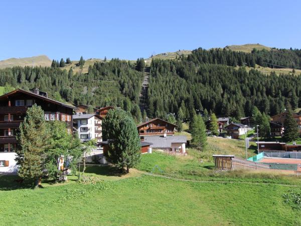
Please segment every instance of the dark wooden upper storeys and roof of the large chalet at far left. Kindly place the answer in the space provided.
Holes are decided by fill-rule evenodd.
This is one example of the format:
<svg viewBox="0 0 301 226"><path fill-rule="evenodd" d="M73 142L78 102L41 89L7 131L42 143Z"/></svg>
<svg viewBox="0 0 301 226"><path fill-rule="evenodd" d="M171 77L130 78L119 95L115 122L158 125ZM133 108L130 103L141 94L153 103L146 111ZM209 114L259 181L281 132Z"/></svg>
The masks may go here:
<svg viewBox="0 0 301 226"><path fill-rule="evenodd" d="M35 93L17 89L0 96L0 152L14 151L20 123L23 122L27 109L35 103L44 110L45 120L65 121L68 131L72 132L72 115L76 107L50 99L45 92L40 95L38 89L34 91Z"/></svg>

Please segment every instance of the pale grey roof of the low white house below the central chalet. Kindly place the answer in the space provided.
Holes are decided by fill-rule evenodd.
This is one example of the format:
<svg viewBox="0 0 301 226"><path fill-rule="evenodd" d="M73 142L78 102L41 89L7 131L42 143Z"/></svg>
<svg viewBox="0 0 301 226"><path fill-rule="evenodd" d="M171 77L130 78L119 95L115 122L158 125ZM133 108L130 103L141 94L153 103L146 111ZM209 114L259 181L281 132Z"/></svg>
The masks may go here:
<svg viewBox="0 0 301 226"><path fill-rule="evenodd" d="M187 143L186 136L145 136L144 141L153 143L151 148L171 148L175 143Z"/></svg>

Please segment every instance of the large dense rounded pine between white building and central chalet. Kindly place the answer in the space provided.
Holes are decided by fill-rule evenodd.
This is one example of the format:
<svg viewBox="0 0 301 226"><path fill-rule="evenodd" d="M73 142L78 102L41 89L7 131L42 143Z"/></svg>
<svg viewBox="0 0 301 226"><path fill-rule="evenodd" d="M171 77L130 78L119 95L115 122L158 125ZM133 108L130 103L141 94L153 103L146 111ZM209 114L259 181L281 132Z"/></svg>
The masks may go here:
<svg viewBox="0 0 301 226"><path fill-rule="evenodd" d="M140 161L140 139L136 124L122 109L109 110L103 121L103 138L108 140L108 157L119 169Z"/></svg>

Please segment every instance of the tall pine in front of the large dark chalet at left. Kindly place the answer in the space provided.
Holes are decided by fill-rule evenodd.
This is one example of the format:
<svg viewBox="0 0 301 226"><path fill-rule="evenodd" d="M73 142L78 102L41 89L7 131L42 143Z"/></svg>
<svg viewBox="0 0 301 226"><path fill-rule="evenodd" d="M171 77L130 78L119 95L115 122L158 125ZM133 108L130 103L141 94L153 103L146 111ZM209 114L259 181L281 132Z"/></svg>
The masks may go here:
<svg viewBox="0 0 301 226"><path fill-rule="evenodd" d="M24 122L20 125L17 136L20 148L17 149L18 175L25 179L36 180L36 187L41 185L45 169L45 151L48 132L44 111L34 104L28 108Z"/></svg>

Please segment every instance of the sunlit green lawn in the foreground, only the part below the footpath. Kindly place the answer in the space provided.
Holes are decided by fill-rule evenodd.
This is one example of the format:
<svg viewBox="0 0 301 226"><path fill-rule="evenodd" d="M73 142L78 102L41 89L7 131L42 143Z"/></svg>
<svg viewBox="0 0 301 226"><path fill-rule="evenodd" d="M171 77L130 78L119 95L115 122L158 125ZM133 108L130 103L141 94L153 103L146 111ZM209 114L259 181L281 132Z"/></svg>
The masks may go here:
<svg viewBox="0 0 301 226"><path fill-rule="evenodd" d="M90 170L94 176L106 171ZM0 199L5 203L0 207L0 224L298 225L299 210L284 204L282 198L288 189L147 175L87 185L71 181L34 190L0 188Z"/></svg>

